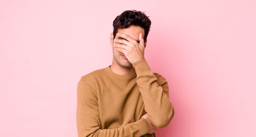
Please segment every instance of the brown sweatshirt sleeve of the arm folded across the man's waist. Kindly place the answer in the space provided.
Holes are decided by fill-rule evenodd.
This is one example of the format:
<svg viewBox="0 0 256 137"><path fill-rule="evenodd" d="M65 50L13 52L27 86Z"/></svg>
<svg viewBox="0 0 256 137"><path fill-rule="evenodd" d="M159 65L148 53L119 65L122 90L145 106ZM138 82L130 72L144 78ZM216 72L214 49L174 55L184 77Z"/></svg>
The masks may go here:
<svg viewBox="0 0 256 137"><path fill-rule="evenodd" d="M149 132L146 119L113 129L101 129L97 91L86 82L77 85L78 137L140 137Z"/></svg>

